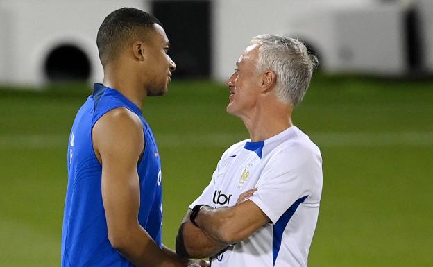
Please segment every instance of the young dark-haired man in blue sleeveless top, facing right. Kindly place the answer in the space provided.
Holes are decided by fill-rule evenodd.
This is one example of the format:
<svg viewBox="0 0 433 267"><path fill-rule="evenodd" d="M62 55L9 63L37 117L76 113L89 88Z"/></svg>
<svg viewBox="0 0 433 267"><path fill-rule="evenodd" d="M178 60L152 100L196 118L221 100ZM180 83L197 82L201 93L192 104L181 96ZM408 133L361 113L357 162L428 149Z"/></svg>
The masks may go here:
<svg viewBox="0 0 433 267"><path fill-rule="evenodd" d="M161 243L161 163L141 112L176 69L167 35L152 15L121 8L96 42L104 79L69 137L62 266L199 266Z"/></svg>

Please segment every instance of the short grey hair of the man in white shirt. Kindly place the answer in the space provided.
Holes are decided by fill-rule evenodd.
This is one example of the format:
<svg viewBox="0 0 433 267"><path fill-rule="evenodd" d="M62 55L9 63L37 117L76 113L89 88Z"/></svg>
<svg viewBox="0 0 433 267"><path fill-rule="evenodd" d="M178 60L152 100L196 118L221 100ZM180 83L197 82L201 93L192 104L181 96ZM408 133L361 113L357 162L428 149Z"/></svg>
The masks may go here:
<svg viewBox="0 0 433 267"><path fill-rule="evenodd" d="M276 78L275 94L279 101L296 106L303 100L319 61L308 53L307 47L297 39L276 35L253 37L251 45L259 45L256 72L273 71Z"/></svg>

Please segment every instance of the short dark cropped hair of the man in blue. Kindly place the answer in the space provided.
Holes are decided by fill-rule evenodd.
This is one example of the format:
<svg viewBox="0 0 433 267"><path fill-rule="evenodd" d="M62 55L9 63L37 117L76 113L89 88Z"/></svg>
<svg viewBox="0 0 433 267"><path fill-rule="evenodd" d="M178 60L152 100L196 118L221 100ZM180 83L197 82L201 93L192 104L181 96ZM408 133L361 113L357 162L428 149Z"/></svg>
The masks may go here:
<svg viewBox="0 0 433 267"><path fill-rule="evenodd" d="M99 27L96 37L99 59L105 67L110 60L117 57L120 49L133 38L137 38L149 29L153 30L153 24L159 24L153 15L137 8L120 8L105 17Z"/></svg>

